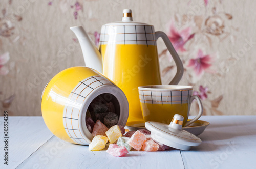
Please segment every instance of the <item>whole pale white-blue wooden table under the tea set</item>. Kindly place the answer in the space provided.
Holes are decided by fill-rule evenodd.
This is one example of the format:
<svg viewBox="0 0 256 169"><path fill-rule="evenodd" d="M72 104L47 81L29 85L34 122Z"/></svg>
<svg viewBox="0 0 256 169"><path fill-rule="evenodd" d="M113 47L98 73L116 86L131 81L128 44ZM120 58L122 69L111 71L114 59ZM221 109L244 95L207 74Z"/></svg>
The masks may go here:
<svg viewBox="0 0 256 169"><path fill-rule="evenodd" d="M114 157L54 136L42 117L9 117L8 165L0 168L256 168L256 116L203 116L202 144L189 151L131 151ZM4 140L4 117L0 136Z"/></svg>

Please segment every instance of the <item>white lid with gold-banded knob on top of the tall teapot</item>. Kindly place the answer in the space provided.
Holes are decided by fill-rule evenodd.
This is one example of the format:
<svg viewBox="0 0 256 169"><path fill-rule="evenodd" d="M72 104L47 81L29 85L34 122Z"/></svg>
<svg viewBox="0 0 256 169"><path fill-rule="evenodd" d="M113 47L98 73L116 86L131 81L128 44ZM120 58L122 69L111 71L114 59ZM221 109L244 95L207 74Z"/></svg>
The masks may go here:
<svg viewBox="0 0 256 169"><path fill-rule="evenodd" d="M104 24L103 26L111 26L111 25L149 25L147 23L141 23L141 22L134 22L133 16L132 16L132 10L131 9L124 9L123 10L123 17L122 21L118 22L111 22Z"/></svg>

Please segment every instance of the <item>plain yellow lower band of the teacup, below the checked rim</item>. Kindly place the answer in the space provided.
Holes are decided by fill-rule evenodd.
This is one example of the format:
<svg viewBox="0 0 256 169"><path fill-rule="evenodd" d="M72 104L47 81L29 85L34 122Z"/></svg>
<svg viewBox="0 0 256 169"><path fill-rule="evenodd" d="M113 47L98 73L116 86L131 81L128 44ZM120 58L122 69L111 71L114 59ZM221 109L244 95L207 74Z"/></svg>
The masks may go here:
<svg viewBox="0 0 256 169"><path fill-rule="evenodd" d="M184 127L188 118L188 104L150 104L140 103L145 121L154 121L170 124L175 114L184 117L182 126Z"/></svg>

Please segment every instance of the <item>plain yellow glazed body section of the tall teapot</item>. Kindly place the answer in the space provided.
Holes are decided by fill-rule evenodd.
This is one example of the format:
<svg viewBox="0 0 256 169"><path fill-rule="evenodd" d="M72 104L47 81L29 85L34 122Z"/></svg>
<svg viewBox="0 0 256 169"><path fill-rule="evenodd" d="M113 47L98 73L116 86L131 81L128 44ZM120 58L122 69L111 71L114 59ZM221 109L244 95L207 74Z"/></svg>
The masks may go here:
<svg viewBox="0 0 256 169"><path fill-rule="evenodd" d="M126 95L129 102L128 126L143 124L138 87L161 85L157 47L153 45L101 45L103 74Z"/></svg>

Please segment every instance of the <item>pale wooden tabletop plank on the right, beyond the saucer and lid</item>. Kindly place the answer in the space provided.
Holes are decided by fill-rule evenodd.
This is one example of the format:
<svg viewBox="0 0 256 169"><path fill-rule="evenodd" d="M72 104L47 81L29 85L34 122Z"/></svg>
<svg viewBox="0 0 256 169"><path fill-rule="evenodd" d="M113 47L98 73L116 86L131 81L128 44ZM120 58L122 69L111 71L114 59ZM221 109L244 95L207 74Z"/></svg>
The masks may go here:
<svg viewBox="0 0 256 169"><path fill-rule="evenodd" d="M185 168L255 168L256 116L203 116L202 144L181 151Z"/></svg>

